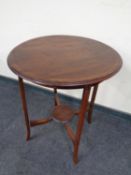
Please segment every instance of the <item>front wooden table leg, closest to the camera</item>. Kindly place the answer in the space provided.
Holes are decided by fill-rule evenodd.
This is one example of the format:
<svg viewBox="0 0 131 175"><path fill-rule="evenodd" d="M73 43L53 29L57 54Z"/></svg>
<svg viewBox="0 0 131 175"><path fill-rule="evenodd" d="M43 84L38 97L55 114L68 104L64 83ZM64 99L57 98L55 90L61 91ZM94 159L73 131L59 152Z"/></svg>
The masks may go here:
<svg viewBox="0 0 131 175"><path fill-rule="evenodd" d="M88 104L90 89L91 89L90 87L86 87L83 90L82 103L81 103L80 114L79 114L80 117L77 125L77 131L76 131L75 142L74 142L74 154L73 154L74 163L78 162L78 149L79 149L80 138L81 138L82 129L84 125L84 119L85 119L85 113L86 113L86 108Z"/></svg>

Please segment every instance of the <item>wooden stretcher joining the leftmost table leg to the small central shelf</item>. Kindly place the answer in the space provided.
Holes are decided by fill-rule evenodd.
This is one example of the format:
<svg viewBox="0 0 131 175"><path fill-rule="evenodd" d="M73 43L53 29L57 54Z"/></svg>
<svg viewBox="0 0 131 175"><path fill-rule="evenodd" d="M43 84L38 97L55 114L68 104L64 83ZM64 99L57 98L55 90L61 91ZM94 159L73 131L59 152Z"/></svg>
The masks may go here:
<svg viewBox="0 0 131 175"><path fill-rule="evenodd" d="M33 126L38 126L38 125L44 125L52 121L52 118L46 118L46 119L39 119L39 120L31 120L30 125Z"/></svg>

